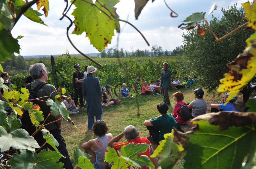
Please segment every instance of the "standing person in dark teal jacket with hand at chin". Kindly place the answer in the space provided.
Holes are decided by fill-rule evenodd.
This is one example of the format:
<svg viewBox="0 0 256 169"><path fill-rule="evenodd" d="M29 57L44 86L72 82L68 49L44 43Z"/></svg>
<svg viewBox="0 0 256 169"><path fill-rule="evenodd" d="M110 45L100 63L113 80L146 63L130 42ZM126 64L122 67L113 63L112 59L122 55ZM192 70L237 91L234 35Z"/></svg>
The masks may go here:
<svg viewBox="0 0 256 169"><path fill-rule="evenodd" d="M168 68L168 63L163 63L163 68L161 72L161 82L160 87L162 88L163 93L163 102L165 102L168 106L171 106L170 98L168 95L170 84L171 84L171 70Z"/></svg>

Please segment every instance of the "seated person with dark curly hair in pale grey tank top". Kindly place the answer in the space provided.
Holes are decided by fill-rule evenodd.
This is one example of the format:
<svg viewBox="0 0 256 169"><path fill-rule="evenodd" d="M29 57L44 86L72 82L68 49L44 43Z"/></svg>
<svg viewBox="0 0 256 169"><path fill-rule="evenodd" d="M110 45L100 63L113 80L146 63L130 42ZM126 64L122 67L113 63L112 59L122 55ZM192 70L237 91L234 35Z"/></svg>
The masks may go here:
<svg viewBox="0 0 256 169"><path fill-rule="evenodd" d="M107 150L107 143L113 138L113 135L108 132L108 127L105 121L97 120L93 124L92 132L98 136L95 139L89 140L82 144L84 152L91 155L91 163L95 169L105 169L107 162L105 161L105 151Z"/></svg>

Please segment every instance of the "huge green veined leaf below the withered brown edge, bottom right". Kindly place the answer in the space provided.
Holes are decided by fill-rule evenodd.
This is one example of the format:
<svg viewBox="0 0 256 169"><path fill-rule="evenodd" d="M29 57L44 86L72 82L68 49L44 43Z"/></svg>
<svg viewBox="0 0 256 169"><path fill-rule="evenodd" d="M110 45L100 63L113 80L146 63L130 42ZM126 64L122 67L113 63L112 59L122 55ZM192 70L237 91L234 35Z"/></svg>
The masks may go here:
<svg viewBox="0 0 256 169"><path fill-rule="evenodd" d="M185 146L185 169L239 169L244 157L254 153L252 150L256 146L256 130L253 125L233 126L229 130L220 131L219 126L206 121L193 123L198 124L196 129L199 131L187 134L190 140Z"/></svg>

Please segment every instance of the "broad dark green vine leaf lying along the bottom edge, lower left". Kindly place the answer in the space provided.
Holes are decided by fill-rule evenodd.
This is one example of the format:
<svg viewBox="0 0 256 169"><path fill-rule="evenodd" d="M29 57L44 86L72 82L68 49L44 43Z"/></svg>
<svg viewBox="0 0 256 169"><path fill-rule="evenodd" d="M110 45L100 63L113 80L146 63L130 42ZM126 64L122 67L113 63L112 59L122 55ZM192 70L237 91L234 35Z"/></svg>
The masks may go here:
<svg viewBox="0 0 256 169"><path fill-rule="evenodd" d="M21 155L14 154L11 158L12 169L61 169L64 165L58 162L61 155L55 151L45 149L38 154L31 151L21 151Z"/></svg>

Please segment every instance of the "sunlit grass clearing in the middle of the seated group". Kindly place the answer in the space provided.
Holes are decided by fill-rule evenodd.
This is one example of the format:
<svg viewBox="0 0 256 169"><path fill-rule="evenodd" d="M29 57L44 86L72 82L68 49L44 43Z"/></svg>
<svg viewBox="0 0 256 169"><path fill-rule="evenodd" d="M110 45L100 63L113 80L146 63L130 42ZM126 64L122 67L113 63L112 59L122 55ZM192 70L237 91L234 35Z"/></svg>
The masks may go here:
<svg viewBox="0 0 256 169"><path fill-rule="evenodd" d="M194 90L195 88L189 89L181 89L180 91L184 94L184 102L191 103L195 99ZM172 94L175 93L173 89L169 90L169 96L171 101L171 107L168 110L168 113L173 113L174 108L174 100ZM242 96L239 95L238 102L242 101ZM208 104L207 112L210 112L210 104L216 103L220 104L222 98L220 96L213 96L212 94L205 93L204 99ZM129 98L129 99L121 99L120 104L113 107L103 107L103 115L102 120L107 122L109 127L109 132L113 134L113 136L117 136L121 133L125 126L133 125L137 127L137 130L140 133L140 136L148 136L148 130L145 126L143 126L144 120L148 120L152 117L159 116L156 109L156 105L163 101L163 96L137 96L138 100L138 108L136 104L136 98ZM70 155L70 159L73 163L73 166L76 166L76 162L73 156L73 150L76 145L78 145L79 149L84 142L87 142L90 139L96 138L96 136L88 131L87 129L87 114L86 109L82 108L79 110L80 113L77 115L72 115L71 119L75 122L75 126L78 128L76 130L66 121L63 121L62 126L62 134L67 144L67 149ZM190 122L187 125L181 126L185 132L191 130L193 124ZM125 142L125 138L122 138L120 141ZM153 149L156 148L156 144L152 144ZM176 169L183 168L184 160L183 158L180 159L174 166Z"/></svg>

